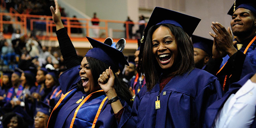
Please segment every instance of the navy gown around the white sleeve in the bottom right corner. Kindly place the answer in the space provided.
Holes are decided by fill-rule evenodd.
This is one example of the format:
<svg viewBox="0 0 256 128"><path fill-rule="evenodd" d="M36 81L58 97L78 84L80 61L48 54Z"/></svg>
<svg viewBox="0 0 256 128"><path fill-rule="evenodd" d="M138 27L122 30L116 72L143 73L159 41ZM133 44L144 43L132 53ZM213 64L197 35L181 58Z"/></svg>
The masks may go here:
<svg viewBox="0 0 256 128"><path fill-rule="evenodd" d="M249 80L253 75L254 75L253 73L247 74L246 76L244 76L244 78L242 78L238 82L230 85L228 92L226 92L221 99L217 100L206 109L204 128L211 128L213 126L216 116L218 115L221 108L224 106L228 97L230 97L231 94L235 94L246 83L246 81ZM256 128L255 120L256 120L256 116L250 128Z"/></svg>

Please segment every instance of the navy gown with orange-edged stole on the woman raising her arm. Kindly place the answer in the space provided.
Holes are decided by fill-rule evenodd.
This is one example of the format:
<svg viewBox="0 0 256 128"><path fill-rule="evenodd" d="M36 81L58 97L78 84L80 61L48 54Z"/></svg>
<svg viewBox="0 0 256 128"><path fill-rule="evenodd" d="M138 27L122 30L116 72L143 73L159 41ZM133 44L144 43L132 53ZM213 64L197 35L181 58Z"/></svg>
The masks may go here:
<svg viewBox="0 0 256 128"><path fill-rule="evenodd" d="M75 111L82 103L76 104L76 102L84 96L84 99L88 94L77 88L78 81L81 80L79 76L78 66L68 69L61 74L59 78L62 92L66 92L65 95L59 100L57 105L50 116L48 122L48 128L69 128L74 117ZM72 85L69 85L72 84ZM92 127L92 123L95 119L96 113L99 110L99 106L103 99L106 98L105 92L96 92L80 107L76 113L76 117L73 123L73 127ZM130 106L124 101L120 100L126 111L131 111ZM95 123L97 128L112 128L122 127L128 119L130 113L123 114L125 119L119 122L116 121L112 107L107 102L103 102L102 109L100 110L99 117Z"/></svg>

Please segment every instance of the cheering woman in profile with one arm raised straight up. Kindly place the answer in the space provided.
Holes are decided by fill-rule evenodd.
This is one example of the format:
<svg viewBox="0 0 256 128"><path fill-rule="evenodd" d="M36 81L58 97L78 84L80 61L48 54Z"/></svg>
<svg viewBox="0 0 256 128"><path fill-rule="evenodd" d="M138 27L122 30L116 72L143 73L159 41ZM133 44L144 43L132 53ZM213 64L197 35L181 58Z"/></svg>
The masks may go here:
<svg viewBox="0 0 256 128"><path fill-rule="evenodd" d="M121 47L113 48L107 44L87 37L92 45L83 60L79 60L76 50L61 22L61 14L57 0L55 7L50 7L56 24L56 34L67 71L61 74L59 82L64 95L54 107L48 128L112 128L118 127L106 93L98 85L98 78L103 71L110 68L118 71L119 63L128 65ZM119 44L116 46L120 46ZM129 108L131 95L127 86L118 78L114 86L121 102ZM112 97L111 97L112 98ZM110 98L110 99L111 99ZM122 123L121 123L122 124ZM120 125L120 124L119 124Z"/></svg>

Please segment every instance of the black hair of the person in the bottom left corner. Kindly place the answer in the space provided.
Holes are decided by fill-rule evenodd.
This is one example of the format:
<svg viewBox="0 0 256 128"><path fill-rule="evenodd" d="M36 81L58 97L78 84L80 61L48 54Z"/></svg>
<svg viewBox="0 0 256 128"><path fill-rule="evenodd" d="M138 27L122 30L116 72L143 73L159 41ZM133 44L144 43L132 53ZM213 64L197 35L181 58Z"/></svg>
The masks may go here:
<svg viewBox="0 0 256 128"><path fill-rule="evenodd" d="M17 128L24 128L24 119L16 114L15 112L9 112L3 115L2 123L3 123L3 128L7 128L7 125L10 123L10 119L13 117L17 117L18 120L18 127Z"/></svg>

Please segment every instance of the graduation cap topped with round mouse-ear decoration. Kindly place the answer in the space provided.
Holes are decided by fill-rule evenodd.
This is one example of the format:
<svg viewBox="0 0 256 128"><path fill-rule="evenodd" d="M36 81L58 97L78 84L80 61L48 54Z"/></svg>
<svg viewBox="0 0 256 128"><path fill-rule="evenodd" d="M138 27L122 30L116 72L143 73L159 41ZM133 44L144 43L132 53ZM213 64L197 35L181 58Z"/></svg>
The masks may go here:
<svg viewBox="0 0 256 128"><path fill-rule="evenodd" d="M104 43L94 40L90 37L86 38L91 43L93 48L86 53L85 57L92 57L106 63L107 65L111 66L111 69L114 72L118 71L119 64L129 65L125 59L125 56L123 55L123 52L121 52L125 47L124 45L121 46L121 43L119 44L118 42L116 45L112 45L111 40L108 38ZM125 39L122 39L121 42L125 42ZM114 47L111 47L111 45Z"/></svg>

